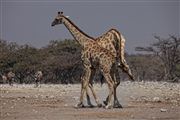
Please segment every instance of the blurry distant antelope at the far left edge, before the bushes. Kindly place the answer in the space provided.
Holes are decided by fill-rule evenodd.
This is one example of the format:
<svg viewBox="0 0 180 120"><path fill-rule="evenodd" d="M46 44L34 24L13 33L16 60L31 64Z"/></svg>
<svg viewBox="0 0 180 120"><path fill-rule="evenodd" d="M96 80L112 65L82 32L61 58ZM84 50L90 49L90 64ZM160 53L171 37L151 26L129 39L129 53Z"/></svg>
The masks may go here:
<svg viewBox="0 0 180 120"><path fill-rule="evenodd" d="M15 73L13 73L12 71L8 72L7 74L2 75L2 79L4 82L8 82L9 85L13 85L13 81L14 81L14 77L15 77Z"/></svg>

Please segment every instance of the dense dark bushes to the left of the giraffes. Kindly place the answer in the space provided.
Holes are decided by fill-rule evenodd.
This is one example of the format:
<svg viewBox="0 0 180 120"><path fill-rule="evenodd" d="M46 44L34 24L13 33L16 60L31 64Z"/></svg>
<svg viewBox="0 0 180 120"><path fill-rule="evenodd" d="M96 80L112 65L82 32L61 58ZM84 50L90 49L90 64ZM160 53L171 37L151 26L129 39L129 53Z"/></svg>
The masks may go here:
<svg viewBox="0 0 180 120"><path fill-rule="evenodd" d="M37 49L0 41L0 72L12 69L18 83L34 82L34 73L43 71L45 83L76 83L82 66L80 47L74 40L53 40L47 47Z"/></svg>

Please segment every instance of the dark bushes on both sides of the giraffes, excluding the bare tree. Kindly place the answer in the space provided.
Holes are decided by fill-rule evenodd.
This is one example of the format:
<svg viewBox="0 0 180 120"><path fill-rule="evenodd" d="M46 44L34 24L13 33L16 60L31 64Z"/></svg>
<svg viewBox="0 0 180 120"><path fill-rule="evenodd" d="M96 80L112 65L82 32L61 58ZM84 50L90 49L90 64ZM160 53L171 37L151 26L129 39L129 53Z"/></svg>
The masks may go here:
<svg viewBox="0 0 180 120"><path fill-rule="evenodd" d="M157 44L153 45L156 48ZM141 51L150 52L157 50L155 48L152 46L147 48L138 47ZM143 55L126 54L126 59L136 80L163 80L165 75L164 64L162 59L157 57L157 55L162 56L161 52L158 52ZM175 54L177 60L180 58L179 53L180 49L178 48ZM179 61L174 65L174 74L177 77L180 77ZM15 82L17 83L33 83L34 74L38 70L43 72L42 83L77 83L80 82L83 72L81 47L75 40L68 39L52 40L41 49L0 40L0 75L7 73L9 70L15 72ZM100 77L97 78L100 79ZM128 76L120 73L120 78L124 80Z"/></svg>

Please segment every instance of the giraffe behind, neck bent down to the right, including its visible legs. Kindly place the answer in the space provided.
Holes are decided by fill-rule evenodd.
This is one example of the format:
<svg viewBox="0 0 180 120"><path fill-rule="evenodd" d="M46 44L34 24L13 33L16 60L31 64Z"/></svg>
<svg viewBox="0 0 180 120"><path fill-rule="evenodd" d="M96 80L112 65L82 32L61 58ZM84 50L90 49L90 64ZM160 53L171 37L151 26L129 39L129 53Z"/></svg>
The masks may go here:
<svg viewBox="0 0 180 120"><path fill-rule="evenodd" d="M96 38L95 40L101 47L106 48L107 50L111 51L111 53L114 54L114 56L116 56L117 66L120 67L123 72L127 73L127 75L129 76L129 78L131 80L134 80L132 72L131 72L131 70L125 60L125 57L124 57L124 47L125 47L124 36L118 30L110 29L105 34ZM122 106L119 104L119 101L116 96L116 89L117 89L118 85L120 84L120 81L116 80L115 76L114 76L114 80L115 80L114 107L121 108ZM92 105L88 94L89 93L87 91L86 92L87 102L89 105ZM106 101L104 101L104 104L107 104L107 100L108 100L108 97L106 98Z"/></svg>

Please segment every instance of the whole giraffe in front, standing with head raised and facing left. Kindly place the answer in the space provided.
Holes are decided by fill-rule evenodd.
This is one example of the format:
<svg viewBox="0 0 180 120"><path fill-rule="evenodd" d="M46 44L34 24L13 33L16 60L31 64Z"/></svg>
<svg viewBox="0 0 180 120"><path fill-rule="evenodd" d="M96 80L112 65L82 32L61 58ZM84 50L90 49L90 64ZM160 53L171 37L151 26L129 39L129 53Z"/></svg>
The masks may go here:
<svg viewBox="0 0 180 120"><path fill-rule="evenodd" d="M83 98L84 93L87 90L87 86L91 88L94 93L94 97L96 96L95 91L89 84L89 80L94 76L94 69L100 68L109 88L108 100L105 108L111 108L111 99L114 94L114 80L112 79L110 73L116 66L115 56L109 50L99 46L95 42L94 38L81 31L70 19L63 15L63 12L58 12L57 17L51 25L55 26L57 24L64 24L82 47L81 59L83 61L84 74L81 77L81 95L80 102L77 104L77 107L84 106ZM95 101L99 107L102 106L97 97L95 97Z"/></svg>

